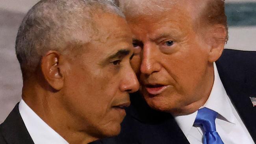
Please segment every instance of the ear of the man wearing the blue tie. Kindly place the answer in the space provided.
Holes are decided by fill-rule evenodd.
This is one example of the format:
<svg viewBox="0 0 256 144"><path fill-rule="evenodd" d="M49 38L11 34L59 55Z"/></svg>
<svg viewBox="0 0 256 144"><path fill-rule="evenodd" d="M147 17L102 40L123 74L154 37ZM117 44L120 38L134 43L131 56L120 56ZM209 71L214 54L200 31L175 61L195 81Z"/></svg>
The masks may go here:
<svg viewBox="0 0 256 144"><path fill-rule="evenodd" d="M210 28L211 50L208 61L213 63L221 57L226 43L226 28L221 24L215 24Z"/></svg>

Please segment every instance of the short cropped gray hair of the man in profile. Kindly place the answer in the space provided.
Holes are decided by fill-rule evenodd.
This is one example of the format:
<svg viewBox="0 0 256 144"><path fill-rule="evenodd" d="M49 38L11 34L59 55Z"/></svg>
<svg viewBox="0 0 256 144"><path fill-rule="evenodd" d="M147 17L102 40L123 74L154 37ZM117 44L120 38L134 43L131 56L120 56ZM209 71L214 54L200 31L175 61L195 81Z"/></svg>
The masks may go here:
<svg viewBox="0 0 256 144"><path fill-rule="evenodd" d="M97 28L95 13L113 13L124 18L115 0L41 0L20 25L16 55L23 79L33 74L49 50L65 53L76 42L90 42ZM77 39L82 35L83 39ZM71 44L70 44L71 43Z"/></svg>

